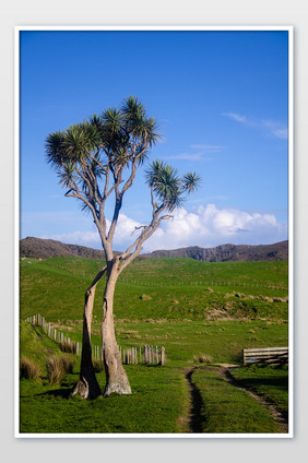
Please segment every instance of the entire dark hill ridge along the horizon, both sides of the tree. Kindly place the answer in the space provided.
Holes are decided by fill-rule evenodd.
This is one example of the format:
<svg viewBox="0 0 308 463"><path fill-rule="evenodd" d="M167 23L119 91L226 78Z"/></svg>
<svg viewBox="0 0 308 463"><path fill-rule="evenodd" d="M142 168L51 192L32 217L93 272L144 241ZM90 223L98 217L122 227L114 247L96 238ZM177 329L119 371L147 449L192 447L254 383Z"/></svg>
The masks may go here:
<svg viewBox="0 0 308 463"><path fill-rule="evenodd" d="M67 245L54 239L27 237L20 241L21 257L47 259L51 257L79 257L84 259L105 259L105 253L98 249L78 245ZM200 248L191 246L174 250L157 250L142 258L191 258L203 262L227 261L281 261L288 259L288 241L274 245L235 246L222 245L216 248Z"/></svg>

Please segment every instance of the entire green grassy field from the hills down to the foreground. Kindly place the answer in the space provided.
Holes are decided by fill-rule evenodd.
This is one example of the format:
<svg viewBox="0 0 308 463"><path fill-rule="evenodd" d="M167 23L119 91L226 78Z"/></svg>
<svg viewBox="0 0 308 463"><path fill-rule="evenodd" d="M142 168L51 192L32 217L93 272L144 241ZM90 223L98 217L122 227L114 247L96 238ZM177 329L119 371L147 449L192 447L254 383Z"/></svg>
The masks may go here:
<svg viewBox="0 0 308 463"><path fill-rule="evenodd" d="M192 259L133 262L117 284L117 341L122 348L144 344L165 346L166 367L126 366L131 396L111 395L95 402L68 400L68 391L78 379L79 357L72 356L73 372L67 373L58 384L49 384L46 358L62 353L45 333L24 320L40 313L71 340L81 342L84 293L103 265L104 261L79 258L21 262L21 357L32 358L40 368L39 380L21 380L21 432L189 432L191 391L185 377L193 366L202 367L191 376L202 395L199 411L202 432L277 431L259 404L244 392L238 395L239 391L217 376L215 367L205 371L203 361L205 358L211 365L240 365L242 348L287 345L287 262L208 263ZM94 306L92 342L97 345L102 342L103 290L104 281L97 288ZM247 368L236 371L242 384L268 394L286 413L285 373L283 378L275 377L275 389L272 369L263 369L258 380L256 372L254 379L245 376ZM104 388L105 373L97 377ZM212 380L220 388L212 390ZM277 392L280 384L283 385ZM224 396L225 388L235 395L226 394L222 408L220 400L211 397L214 391ZM239 403L252 415L256 406L260 408L254 413L260 417L258 423L250 420L250 412L245 414L244 423ZM228 414L234 416L233 426Z"/></svg>

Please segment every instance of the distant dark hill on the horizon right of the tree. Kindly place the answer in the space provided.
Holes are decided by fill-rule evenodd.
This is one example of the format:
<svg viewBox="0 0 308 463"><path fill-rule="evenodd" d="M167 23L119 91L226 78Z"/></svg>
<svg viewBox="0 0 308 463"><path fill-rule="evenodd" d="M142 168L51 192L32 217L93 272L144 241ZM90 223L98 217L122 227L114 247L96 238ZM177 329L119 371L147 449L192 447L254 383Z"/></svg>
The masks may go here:
<svg viewBox="0 0 308 463"><path fill-rule="evenodd" d="M253 262L253 261L282 261L288 259L288 241L274 245L222 245L216 248L200 248L191 246L174 250L157 250L149 258L191 258L203 262Z"/></svg>

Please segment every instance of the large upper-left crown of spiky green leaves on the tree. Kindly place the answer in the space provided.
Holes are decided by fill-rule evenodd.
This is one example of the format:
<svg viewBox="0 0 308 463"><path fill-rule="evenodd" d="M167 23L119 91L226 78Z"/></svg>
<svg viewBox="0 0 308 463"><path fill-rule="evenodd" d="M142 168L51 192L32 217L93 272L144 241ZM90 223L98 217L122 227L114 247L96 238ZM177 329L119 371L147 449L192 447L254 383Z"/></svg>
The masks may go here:
<svg viewBox="0 0 308 463"><path fill-rule="evenodd" d="M102 176L108 168L117 176L131 163L142 163L147 147L159 136L155 119L147 117L144 106L130 96L120 108L107 108L100 116L94 115L87 121L49 134L45 151L47 162L67 187L72 178L72 165L88 181L92 174Z"/></svg>

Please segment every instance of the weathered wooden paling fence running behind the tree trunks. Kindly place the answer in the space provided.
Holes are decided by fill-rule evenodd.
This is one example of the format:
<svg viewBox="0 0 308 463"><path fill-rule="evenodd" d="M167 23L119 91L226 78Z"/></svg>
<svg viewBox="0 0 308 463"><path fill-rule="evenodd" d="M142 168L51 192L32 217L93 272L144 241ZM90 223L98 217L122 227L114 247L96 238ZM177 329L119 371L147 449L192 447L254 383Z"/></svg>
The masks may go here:
<svg viewBox="0 0 308 463"><path fill-rule="evenodd" d="M72 341L56 328L52 323L48 323L39 313L37 316L27 317L26 322L42 327L48 337L56 343L59 343L61 351L70 352L75 355L81 355L82 345L78 341ZM164 346L144 345L138 347L122 348L118 346L120 352L121 361L125 365L162 365L166 363L166 352ZM94 360L103 360L103 347L92 345L92 356Z"/></svg>

